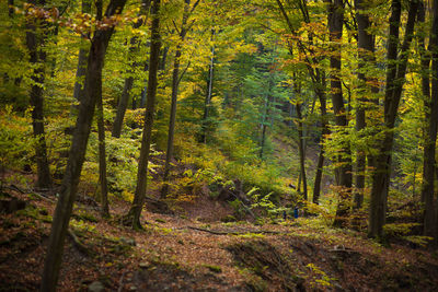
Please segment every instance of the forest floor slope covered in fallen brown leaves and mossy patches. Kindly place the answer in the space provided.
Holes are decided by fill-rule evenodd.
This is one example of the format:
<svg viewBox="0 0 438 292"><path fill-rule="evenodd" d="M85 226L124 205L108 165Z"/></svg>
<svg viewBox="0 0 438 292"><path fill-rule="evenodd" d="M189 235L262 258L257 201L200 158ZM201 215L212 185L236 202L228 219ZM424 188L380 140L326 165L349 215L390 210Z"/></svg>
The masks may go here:
<svg viewBox="0 0 438 292"><path fill-rule="evenodd" d="M11 200L12 209L4 207ZM9 186L1 201L0 291L36 291L55 197ZM112 219L102 220L92 201L76 206L59 291L438 289L436 253L395 243L384 247L364 233L312 219L223 223L217 215L227 213L227 205L200 196L177 214L145 210L145 230L132 231L120 224L128 208L113 201Z"/></svg>

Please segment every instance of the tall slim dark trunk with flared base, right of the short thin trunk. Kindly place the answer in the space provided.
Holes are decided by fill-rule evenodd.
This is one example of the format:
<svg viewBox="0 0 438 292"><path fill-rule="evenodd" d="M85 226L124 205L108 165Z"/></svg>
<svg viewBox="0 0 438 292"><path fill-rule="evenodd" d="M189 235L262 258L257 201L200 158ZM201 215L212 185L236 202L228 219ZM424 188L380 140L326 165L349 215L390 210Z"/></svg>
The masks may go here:
<svg viewBox="0 0 438 292"><path fill-rule="evenodd" d="M127 214L126 222L130 223L134 229L141 229L140 215L146 198L146 188L148 182L148 161L150 153L153 115L155 107L155 96L158 86L158 67L160 63L160 0L154 0L152 4L152 26L151 26L151 46L150 46L150 58L149 58L149 80L148 80L148 93L147 93L147 105L145 113L145 126L141 138L141 150L140 160L138 163L137 173L137 187L134 197L132 206Z"/></svg>

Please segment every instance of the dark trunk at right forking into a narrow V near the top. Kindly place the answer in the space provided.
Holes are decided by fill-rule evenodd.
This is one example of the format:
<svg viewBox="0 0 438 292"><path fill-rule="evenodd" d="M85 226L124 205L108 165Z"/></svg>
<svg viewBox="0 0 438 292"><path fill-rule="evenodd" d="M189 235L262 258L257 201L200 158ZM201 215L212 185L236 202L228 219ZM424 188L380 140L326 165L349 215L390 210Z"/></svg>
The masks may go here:
<svg viewBox="0 0 438 292"><path fill-rule="evenodd" d="M408 48L414 32L418 2L410 2L405 37L397 54L399 28L401 19L401 1L393 0L391 7L390 32L388 45L387 87L384 96L384 137L380 141L379 154L376 156L376 171L372 174L371 201L369 210L368 235L383 237L385 222L388 189L391 174L392 145L394 142L394 125L407 66ZM397 59L397 55L401 56Z"/></svg>

